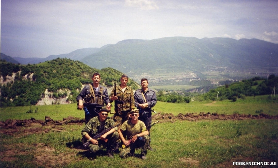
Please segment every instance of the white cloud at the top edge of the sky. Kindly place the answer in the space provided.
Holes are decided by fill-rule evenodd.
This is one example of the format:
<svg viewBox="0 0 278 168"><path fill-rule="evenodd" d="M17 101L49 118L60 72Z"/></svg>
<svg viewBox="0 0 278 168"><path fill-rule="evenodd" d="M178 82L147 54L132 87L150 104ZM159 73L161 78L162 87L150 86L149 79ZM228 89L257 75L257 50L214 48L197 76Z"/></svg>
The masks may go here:
<svg viewBox="0 0 278 168"><path fill-rule="evenodd" d="M125 4L131 7L140 7L143 10L158 9L156 2L149 0L126 0Z"/></svg>

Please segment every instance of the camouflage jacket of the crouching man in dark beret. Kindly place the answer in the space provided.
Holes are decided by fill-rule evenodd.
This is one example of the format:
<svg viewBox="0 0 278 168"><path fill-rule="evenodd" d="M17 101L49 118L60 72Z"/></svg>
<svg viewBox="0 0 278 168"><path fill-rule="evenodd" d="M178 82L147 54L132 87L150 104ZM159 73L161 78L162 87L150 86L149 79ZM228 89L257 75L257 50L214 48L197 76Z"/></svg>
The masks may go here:
<svg viewBox="0 0 278 168"><path fill-rule="evenodd" d="M104 129L107 129L113 126L114 124L116 123L108 116L107 119L105 120ZM82 129L81 135L84 136L86 134L89 134L91 137L93 137L96 134L98 134L99 126L100 126L99 116L93 117ZM115 127L114 129L118 131L118 127Z"/></svg>

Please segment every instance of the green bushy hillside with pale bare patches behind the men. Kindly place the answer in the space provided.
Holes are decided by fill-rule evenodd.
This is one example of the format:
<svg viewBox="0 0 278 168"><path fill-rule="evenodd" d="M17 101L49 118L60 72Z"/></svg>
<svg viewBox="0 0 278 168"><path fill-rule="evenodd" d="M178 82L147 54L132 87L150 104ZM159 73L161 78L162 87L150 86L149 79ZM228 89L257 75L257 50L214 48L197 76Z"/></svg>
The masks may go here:
<svg viewBox="0 0 278 168"><path fill-rule="evenodd" d="M67 97L68 102L75 102L82 84L92 82L92 74L101 75L101 84L112 87L120 83L122 73L116 69L95 69L80 61L57 58L33 65L18 65L1 62L1 107L35 105L45 95L47 89L54 99ZM128 86L138 88L133 80Z"/></svg>

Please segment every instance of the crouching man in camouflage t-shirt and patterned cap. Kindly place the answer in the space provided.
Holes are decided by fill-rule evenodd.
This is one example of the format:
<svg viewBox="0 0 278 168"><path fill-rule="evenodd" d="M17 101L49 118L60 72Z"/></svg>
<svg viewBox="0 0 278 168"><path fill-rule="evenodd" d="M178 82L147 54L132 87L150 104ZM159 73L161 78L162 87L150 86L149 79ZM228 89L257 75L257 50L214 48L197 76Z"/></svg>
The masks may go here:
<svg viewBox="0 0 278 168"><path fill-rule="evenodd" d="M125 158L128 156L133 156L135 149L141 147L141 159L145 160L147 155L147 147L150 141L149 131L146 130L146 126L143 121L138 120L138 110L133 110L130 113L131 120L125 121L120 126L120 129L118 131L121 141L125 146L127 146L127 148L121 150L120 157ZM145 129L146 131L142 132L143 129ZM123 136L123 132L126 134L127 140ZM139 138L142 140L140 140Z"/></svg>

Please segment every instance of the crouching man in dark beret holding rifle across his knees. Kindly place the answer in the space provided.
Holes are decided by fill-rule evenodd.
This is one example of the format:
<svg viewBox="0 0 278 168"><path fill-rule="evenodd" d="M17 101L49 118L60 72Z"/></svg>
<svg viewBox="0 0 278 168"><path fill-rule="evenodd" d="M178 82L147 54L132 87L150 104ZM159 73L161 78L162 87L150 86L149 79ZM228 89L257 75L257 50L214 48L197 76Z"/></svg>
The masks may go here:
<svg viewBox="0 0 278 168"><path fill-rule="evenodd" d="M82 143L86 141L91 141L91 144L88 146L90 153L96 154L99 148L103 145L106 146L106 153L108 157L114 158L111 154L112 145L119 139L118 127L112 128L97 140L92 139L93 136L102 132L103 130L113 126L115 122L108 117L108 110L102 108L99 111L99 116L92 118L82 129ZM107 143L104 141L108 139Z"/></svg>

